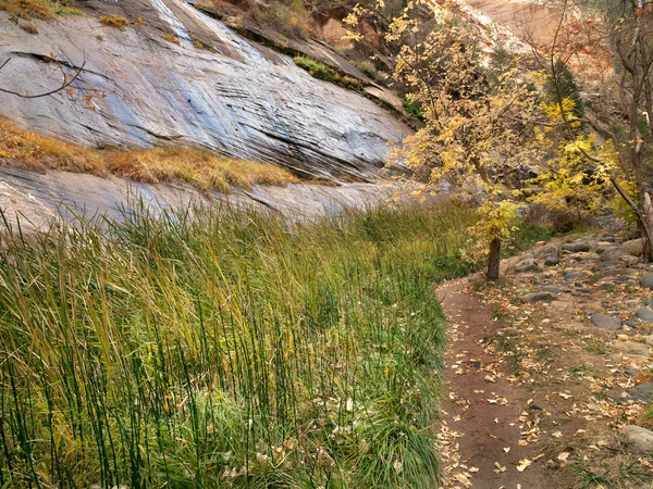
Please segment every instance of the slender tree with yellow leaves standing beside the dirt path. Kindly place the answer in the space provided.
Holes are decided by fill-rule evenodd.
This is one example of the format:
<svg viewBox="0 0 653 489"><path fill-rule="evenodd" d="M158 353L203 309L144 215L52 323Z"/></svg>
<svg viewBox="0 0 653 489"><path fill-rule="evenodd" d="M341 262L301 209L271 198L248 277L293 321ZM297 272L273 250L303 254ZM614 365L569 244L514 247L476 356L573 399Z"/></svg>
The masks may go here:
<svg viewBox="0 0 653 489"><path fill-rule="evenodd" d="M379 1L375 15L383 11ZM479 201L476 242L488 255L488 278L500 274L502 241L515 229L521 203L512 185L523 161L537 109L529 80L515 70L485 75L488 55L478 33L435 2L408 2L387 20L385 41L396 52L394 77L421 105L424 127L409 136L396 156L428 166L468 189ZM370 11L358 5L345 20L355 28ZM350 34L357 39L357 34Z"/></svg>

